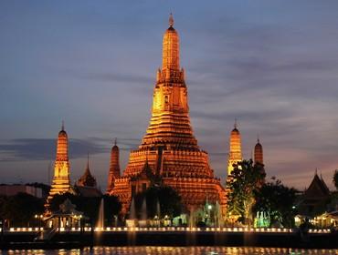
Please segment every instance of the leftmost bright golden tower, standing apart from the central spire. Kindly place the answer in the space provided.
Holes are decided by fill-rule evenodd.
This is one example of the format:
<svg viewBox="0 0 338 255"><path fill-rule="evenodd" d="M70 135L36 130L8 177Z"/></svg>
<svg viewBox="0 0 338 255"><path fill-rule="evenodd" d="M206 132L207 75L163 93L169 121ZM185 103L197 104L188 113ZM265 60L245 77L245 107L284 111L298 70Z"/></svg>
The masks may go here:
<svg viewBox="0 0 338 255"><path fill-rule="evenodd" d="M69 140L64 124L62 123L62 128L58 132L57 157L54 165L54 178L45 205L47 211L49 209L50 199L52 199L54 195L69 192L70 189Z"/></svg>

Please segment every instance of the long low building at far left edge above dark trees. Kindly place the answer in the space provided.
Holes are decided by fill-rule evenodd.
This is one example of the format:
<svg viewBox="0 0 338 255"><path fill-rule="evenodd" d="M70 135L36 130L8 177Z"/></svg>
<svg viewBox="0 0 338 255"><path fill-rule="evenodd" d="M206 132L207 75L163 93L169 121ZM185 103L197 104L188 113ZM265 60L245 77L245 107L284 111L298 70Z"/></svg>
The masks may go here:
<svg viewBox="0 0 338 255"><path fill-rule="evenodd" d="M16 196L16 194L20 192L32 195L38 199L42 199L44 197L43 190L41 188L37 188L34 186L30 186L26 184L0 185L0 195L11 197L11 196Z"/></svg>

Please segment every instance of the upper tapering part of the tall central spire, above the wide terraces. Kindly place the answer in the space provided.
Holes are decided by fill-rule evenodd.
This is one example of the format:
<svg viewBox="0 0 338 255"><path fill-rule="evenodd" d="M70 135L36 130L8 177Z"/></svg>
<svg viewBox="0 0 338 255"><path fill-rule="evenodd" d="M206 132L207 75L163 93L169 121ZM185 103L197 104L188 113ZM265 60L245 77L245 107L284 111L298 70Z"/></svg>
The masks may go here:
<svg viewBox="0 0 338 255"><path fill-rule="evenodd" d="M152 119L142 144L143 148L167 146L199 149L190 124L184 70L179 69L179 37L173 26L164 33L163 66L157 72Z"/></svg>

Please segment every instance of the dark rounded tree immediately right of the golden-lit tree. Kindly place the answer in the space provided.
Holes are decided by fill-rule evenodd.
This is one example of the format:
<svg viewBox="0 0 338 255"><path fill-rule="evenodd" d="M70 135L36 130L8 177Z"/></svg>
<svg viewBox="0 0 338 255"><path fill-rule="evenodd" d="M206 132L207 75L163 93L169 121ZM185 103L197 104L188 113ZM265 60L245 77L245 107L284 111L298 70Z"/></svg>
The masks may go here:
<svg viewBox="0 0 338 255"><path fill-rule="evenodd" d="M284 227L293 225L295 210L292 207L296 200L296 189L282 185L279 179L272 179L256 190L255 199L254 211L268 212L270 225L277 222Z"/></svg>

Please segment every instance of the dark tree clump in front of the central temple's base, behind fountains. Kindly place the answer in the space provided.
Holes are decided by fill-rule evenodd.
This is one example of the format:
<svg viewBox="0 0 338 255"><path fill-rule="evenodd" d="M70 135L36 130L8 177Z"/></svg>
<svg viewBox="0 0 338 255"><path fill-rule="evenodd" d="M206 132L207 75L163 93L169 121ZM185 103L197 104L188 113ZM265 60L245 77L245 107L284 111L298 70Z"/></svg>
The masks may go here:
<svg viewBox="0 0 338 255"><path fill-rule="evenodd" d="M159 213L158 205L160 206L160 216L162 218L164 215L174 218L180 215L183 209L181 197L173 188L168 186L153 186L134 197L136 213L139 218L144 198L146 199L148 218L153 218Z"/></svg>

